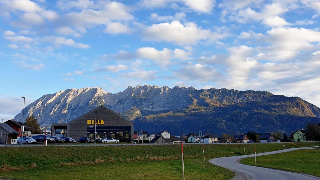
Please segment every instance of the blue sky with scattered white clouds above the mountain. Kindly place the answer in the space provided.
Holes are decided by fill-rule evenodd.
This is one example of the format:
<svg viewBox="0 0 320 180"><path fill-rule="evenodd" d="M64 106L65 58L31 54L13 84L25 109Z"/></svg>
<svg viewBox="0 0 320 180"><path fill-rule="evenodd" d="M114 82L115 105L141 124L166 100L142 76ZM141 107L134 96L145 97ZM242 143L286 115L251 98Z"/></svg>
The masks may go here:
<svg viewBox="0 0 320 180"><path fill-rule="evenodd" d="M69 88L261 90L320 106L320 0L0 0L0 116Z"/></svg>

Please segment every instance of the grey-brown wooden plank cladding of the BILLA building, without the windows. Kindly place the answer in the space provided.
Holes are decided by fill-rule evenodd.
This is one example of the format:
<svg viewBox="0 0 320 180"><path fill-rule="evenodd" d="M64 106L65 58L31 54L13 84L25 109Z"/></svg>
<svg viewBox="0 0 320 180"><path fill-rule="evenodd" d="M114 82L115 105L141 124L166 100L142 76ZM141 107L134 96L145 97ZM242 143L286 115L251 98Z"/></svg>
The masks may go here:
<svg viewBox="0 0 320 180"><path fill-rule="evenodd" d="M67 137L72 137L78 140L80 137L87 136L87 127L94 126L94 124L87 124L88 120L95 119L96 109L89 111L88 113L68 122L67 124L52 124L52 130L54 127L67 127ZM131 127L131 138L133 135L133 123L124 117L118 115L116 112L110 110L109 108L101 105L97 107L97 122L104 121L104 124L96 124L96 127L118 127L118 126L128 126ZM52 131L53 132L53 131Z"/></svg>

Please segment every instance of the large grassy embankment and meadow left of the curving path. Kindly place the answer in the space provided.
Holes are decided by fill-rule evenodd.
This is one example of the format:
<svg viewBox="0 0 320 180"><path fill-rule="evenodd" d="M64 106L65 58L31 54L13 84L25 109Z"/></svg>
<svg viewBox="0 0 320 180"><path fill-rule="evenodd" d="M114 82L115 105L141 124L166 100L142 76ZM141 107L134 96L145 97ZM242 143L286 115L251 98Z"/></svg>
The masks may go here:
<svg viewBox="0 0 320 180"><path fill-rule="evenodd" d="M291 143L204 145L206 160L243 155L244 148L248 153L248 148L253 152L254 147L259 153L291 148ZM0 151L0 177L9 179L175 180L182 174L180 145L3 147ZM186 179L234 176L227 169L204 163L202 145L185 145L184 156Z"/></svg>

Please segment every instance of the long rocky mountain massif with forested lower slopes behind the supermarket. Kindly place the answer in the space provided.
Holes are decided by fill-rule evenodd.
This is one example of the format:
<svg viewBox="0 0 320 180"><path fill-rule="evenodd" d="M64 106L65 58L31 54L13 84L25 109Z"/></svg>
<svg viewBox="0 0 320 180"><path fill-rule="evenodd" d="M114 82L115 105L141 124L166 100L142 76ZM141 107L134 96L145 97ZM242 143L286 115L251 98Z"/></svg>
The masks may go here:
<svg viewBox="0 0 320 180"><path fill-rule="evenodd" d="M100 87L67 89L47 94L25 108L41 127L67 123L104 104L134 122L134 129L168 130L177 135L284 131L320 122L320 109L299 97L266 91L236 91L175 86L129 86L111 94ZM15 119L22 121L22 111Z"/></svg>

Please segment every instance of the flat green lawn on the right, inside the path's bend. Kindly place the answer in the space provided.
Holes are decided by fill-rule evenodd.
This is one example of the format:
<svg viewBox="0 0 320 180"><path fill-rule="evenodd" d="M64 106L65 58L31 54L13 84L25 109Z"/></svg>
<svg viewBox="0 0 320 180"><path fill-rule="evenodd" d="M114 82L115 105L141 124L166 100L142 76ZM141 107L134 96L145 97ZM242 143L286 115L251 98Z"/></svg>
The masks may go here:
<svg viewBox="0 0 320 180"><path fill-rule="evenodd" d="M254 157L240 161L254 166ZM257 166L304 173L320 177L320 151L303 149L266 156L257 156Z"/></svg>

